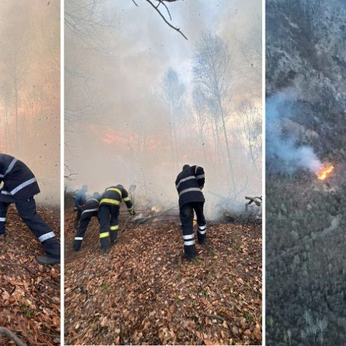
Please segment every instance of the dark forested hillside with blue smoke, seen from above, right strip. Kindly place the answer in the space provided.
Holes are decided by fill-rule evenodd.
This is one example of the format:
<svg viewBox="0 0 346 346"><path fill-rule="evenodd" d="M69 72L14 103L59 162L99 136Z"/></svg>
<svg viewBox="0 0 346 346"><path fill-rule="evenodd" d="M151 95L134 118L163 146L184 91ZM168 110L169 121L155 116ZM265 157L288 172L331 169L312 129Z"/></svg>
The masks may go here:
<svg viewBox="0 0 346 346"><path fill-rule="evenodd" d="M345 343L345 23L342 1L266 1L268 345Z"/></svg>

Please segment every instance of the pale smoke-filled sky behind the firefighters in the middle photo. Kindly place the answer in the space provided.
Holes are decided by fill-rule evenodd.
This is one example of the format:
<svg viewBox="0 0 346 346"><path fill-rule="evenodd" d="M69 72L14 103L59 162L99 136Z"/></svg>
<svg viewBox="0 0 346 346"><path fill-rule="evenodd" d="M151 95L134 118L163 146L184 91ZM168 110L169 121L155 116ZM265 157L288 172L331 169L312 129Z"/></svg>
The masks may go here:
<svg viewBox="0 0 346 346"><path fill-rule="evenodd" d="M84 4L88 6L89 1ZM215 217L211 206L221 208L226 199L243 206L244 195L260 194L262 166L257 162L254 167L251 162L242 130L244 119L237 112L239 102L251 100L257 107L257 122L261 121L260 4L170 4L172 23L188 41L168 28L145 3L138 3L138 8L131 1L99 4L94 16L102 18L108 30L95 25L97 35L81 39L69 24L66 28L65 152L66 165L77 173L66 185L74 189L86 183L89 192L102 192L116 183L136 184L138 202L170 206L177 203L176 175L189 163L206 170L203 192L210 218ZM111 21L102 17L105 8ZM66 1L66 12L71 10L73 3ZM215 118L206 114L202 140L192 102L194 51L206 30L221 38L230 55L224 111L236 186L230 176L221 118L217 119L219 133L215 133ZM97 37L102 37L102 42ZM180 108L174 111L163 97L168 69L174 70L185 86ZM259 151L261 134L255 140Z"/></svg>

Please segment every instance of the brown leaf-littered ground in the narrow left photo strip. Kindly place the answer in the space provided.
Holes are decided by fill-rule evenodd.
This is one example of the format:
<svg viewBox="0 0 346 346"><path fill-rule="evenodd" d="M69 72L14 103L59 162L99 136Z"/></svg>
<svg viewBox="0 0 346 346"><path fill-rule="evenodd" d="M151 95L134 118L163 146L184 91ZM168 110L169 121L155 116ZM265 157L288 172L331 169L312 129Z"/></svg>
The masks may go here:
<svg viewBox="0 0 346 346"><path fill-rule="evenodd" d="M60 210L37 209L59 237ZM28 345L60 345L60 265L35 262L44 251L12 205L6 225L0 238L0 326ZM0 345L12 343L0 334Z"/></svg>

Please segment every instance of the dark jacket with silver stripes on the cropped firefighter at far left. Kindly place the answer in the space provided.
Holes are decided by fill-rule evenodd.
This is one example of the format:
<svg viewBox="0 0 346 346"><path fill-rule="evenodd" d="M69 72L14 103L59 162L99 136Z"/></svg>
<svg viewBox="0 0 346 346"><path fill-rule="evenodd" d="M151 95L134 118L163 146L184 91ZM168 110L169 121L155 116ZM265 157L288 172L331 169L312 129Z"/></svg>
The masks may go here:
<svg viewBox="0 0 346 346"><path fill-rule="evenodd" d="M14 203L39 193L33 172L13 156L0 153L0 202Z"/></svg>

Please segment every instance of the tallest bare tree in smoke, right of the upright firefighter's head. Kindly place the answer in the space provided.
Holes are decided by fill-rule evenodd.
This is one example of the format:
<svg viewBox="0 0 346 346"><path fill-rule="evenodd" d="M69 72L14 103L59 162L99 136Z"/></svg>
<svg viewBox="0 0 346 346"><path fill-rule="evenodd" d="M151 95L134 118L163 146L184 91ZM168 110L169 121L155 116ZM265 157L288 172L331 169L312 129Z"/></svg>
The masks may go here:
<svg viewBox="0 0 346 346"><path fill-rule="evenodd" d="M221 120L228 157L230 177L235 192L233 163L228 145L226 127L226 102L230 93L230 53L225 42L212 33L202 33L194 51L194 82L210 99L215 109L215 124Z"/></svg>

